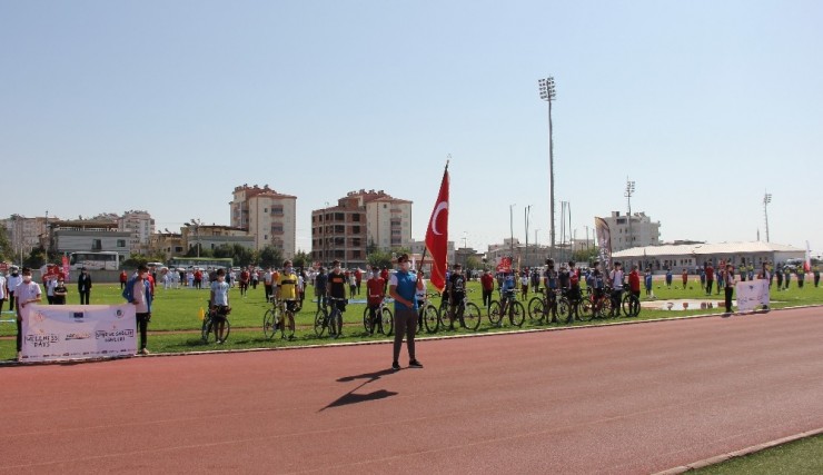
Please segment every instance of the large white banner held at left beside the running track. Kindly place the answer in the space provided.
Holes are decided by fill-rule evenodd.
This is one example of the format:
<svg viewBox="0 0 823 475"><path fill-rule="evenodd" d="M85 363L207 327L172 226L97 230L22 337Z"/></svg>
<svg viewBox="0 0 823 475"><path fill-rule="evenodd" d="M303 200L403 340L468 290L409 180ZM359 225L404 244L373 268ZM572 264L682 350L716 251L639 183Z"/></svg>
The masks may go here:
<svg viewBox="0 0 823 475"><path fill-rule="evenodd" d="M135 306L27 305L22 362L111 358L137 349Z"/></svg>

